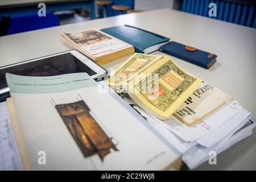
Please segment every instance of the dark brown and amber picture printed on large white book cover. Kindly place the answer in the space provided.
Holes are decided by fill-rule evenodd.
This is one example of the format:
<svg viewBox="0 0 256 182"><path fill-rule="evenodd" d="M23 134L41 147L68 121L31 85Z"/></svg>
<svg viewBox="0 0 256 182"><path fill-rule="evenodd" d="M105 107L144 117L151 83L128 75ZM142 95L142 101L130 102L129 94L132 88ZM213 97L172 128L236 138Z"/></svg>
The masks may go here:
<svg viewBox="0 0 256 182"><path fill-rule="evenodd" d="M98 155L101 161L110 154L110 149L118 151L97 121L90 115L90 109L84 101L55 105L72 137L76 140L85 158Z"/></svg>

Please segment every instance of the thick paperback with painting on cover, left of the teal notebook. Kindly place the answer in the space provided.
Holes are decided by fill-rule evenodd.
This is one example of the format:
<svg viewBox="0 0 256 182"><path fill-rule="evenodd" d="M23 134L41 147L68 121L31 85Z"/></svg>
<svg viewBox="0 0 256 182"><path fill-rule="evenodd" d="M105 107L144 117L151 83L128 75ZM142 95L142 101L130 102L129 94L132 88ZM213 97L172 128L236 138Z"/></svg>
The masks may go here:
<svg viewBox="0 0 256 182"><path fill-rule="evenodd" d="M98 64L105 64L134 52L134 47L130 44L96 29L63 32L61 37Z"/></svg>

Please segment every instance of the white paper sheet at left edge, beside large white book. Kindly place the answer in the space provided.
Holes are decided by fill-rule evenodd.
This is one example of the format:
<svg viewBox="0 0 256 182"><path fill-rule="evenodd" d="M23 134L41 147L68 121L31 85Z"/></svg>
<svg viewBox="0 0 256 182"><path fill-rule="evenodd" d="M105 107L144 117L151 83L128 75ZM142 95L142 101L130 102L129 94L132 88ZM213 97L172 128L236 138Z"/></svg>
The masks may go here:
<svg viewBox="0 0 256 182"><path fill-rule="evenodd" d="M6 102L0 103L0 171L21 170L19 153L14 139Z"/></svg>

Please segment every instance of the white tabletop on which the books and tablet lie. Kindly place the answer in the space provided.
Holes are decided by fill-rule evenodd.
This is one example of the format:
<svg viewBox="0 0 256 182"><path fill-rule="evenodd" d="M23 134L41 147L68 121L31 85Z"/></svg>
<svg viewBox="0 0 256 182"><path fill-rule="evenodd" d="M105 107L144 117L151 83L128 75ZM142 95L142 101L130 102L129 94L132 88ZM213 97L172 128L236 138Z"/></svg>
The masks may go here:
<svg viewBox="0 0 256 182"><path fill-rule="evenodd" d="M72 49L61 40L60 33L63 31L101 29L121 24L137 26L177 42L216 53L217 63L210 69L172 58L181 68L231 94L253 113L255 121L256 29L180 11L170 9L146 11L3 36L0 37L0 66ZM163 55L160 52L154 54ZM104 67L110 71L111 68L118 67L126 58L106 64ZM256 130L251 137L218 155L216 166L205 163L198 169L255 170L255 141Z"/></svg>

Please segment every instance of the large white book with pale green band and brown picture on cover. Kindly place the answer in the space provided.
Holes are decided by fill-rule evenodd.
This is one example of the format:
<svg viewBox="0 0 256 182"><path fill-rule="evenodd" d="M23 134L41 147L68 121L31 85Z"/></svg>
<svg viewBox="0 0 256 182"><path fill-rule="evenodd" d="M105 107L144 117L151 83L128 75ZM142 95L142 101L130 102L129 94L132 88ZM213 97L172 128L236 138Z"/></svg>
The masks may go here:
<svg viewBox="0 0 256 182"><path fill-rule="evenodd" d="M86 73L6 78L32 169L160 170L180 158L109 86Z"/></svg>

